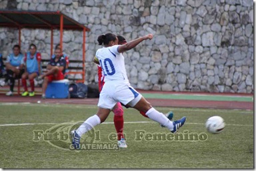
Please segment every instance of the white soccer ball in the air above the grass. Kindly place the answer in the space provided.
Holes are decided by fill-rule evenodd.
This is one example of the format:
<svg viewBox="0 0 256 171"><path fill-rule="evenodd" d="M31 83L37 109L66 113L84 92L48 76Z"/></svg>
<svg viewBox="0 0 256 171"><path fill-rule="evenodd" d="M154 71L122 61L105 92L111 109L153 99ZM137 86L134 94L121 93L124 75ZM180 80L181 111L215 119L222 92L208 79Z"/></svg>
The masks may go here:
<svg viewBox="0 0 256 171"><path fill-rule="evenodd" d="M212 116L206 121L205 126L208 132L219 134L225 128L225 122L221 116Z"/></svg>

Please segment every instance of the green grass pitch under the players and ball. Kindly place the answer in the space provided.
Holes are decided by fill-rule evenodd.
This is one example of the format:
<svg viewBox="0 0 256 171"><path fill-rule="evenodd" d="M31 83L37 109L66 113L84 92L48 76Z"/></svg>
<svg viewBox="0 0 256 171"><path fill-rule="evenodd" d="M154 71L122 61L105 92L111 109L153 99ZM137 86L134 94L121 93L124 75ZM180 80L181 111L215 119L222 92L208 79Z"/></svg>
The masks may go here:
<svg viewBox="0 0 256 171"><path fill-rule="evenodd" d="M63 122L84 121L96 106L67 104L0 104L0 168L253 168L253 111L199 108L157 108L172 110L174 118L187 116L179 132L205 132L207 140L136 141L135 130L169 133L134 109L125 110L127 149L61 150L50 143L33 141L33 130L47 130ZM221 134L210 134L205 121L218 115L227 124ZM142 122L147 121L147 122ZM107 123L113 122L113 112ZM34 123L21 125L22 123ZM7 125L14 124L14 125ZM101 142L115 132L114 124L101 124Z"/></svg>

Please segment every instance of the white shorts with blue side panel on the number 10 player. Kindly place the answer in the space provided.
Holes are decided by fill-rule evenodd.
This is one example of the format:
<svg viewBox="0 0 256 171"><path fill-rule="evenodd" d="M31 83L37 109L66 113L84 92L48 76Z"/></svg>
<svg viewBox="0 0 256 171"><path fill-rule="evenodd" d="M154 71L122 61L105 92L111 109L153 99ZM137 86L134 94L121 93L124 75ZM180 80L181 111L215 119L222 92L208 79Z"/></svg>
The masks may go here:
<svg viewBox="0 0 256 171"><path fill-rule="evenodd" d="M112 109L117 102L121 102L133 107L141 100L141 97L141 94L130 86L129 83L107 81L99 94L98 106Z"/></svg>

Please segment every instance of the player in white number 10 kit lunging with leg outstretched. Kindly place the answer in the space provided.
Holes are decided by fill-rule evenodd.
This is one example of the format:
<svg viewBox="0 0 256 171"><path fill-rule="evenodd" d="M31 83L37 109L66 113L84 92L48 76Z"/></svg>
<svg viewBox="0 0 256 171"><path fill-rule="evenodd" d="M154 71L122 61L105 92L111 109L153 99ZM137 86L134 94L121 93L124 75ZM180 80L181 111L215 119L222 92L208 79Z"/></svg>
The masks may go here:
<svg viewBox="0 0 256 171"><path fill-rule="evenodd" d="M133 49L139 43L147 39L153 39L153 35L145 35L133 41L129 41L129 43L125 45L117 45L118 39L112 33L98 37L97 41L99 45L103 44L104 47L97 50L95 57L99 60L101 68L103 69L105 85L99 96L97 114L87 118L77 130L71 131L72 144L75 149L80 148L80 138L82 134L85 134L94 126L104 122L117 102L122 102L125 105L129 104L129 106L145 112L151 120L159 122L172 133L177 132L177 130L185 124L186 117L172 122L163 113L155 110L155 108L153 108L129 83L122 53Z"/></svg>

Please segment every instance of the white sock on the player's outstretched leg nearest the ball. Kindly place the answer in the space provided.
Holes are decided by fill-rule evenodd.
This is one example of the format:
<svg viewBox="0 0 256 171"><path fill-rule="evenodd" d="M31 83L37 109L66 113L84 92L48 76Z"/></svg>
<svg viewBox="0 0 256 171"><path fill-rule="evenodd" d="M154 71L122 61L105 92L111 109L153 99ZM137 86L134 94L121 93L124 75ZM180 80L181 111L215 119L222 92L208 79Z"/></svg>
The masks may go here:
<svg viewBox="0 0 256 171"><path fill-rule="evenodd" d="M146 115L152 120L159 122L163 126L167 127L169 130L173 130L173 122L169 120L165 114L158 112L155 108L150 108L147 110Z"/></svg>

